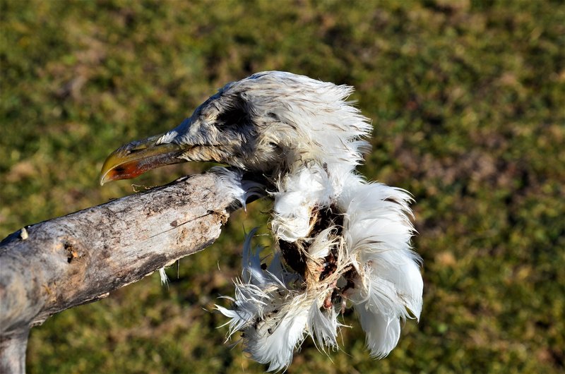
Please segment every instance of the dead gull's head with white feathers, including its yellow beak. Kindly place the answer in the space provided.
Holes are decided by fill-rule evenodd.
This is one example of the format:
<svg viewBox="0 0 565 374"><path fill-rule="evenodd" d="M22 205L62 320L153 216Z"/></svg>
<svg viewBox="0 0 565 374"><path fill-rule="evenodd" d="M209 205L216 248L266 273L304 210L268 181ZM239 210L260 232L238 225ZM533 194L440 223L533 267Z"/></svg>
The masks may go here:
<svg viewBox="0 0 565 374"><path fill-rule="evenodd" d="M345 102L352 88L280 71L228 83L167 133L136 140L107 157L100 184L167 164L208 161L276 174L296 162L349 162L371 125Z"/></svg>

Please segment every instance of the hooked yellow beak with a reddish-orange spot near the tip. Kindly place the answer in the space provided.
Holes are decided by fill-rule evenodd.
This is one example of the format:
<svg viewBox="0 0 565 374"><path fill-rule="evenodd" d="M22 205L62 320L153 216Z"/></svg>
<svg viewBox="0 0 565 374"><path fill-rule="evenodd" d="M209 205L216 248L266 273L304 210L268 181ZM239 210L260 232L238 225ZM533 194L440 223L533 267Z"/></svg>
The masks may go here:
<svg viewBox="0 0 565 374"><path fill-rule="evenodd" d="M178 158L186 146L178 144L157 144L161 135L122 145L109 155L100 171L100 186L109 181L131 179L150 169L169 164L186 162Z"/></svg>

